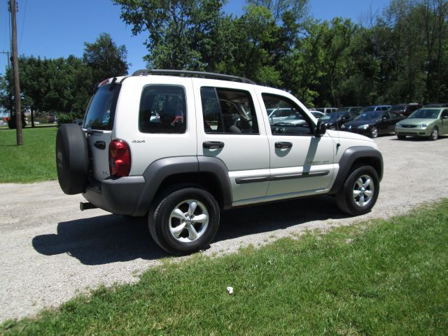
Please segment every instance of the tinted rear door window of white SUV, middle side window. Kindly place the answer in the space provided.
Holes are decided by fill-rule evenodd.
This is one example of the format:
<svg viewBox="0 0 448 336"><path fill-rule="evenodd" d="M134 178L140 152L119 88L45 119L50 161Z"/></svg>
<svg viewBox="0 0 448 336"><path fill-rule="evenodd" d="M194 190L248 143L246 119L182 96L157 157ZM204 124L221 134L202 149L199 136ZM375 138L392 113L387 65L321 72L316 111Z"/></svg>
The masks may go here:
<svg viewBox="0 0 448 336"><path fill-rule="evenodd" d="M201 87L204 132L258 134L251 94L243 90Z"/></svg>

